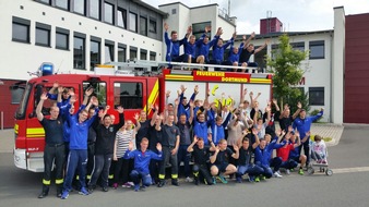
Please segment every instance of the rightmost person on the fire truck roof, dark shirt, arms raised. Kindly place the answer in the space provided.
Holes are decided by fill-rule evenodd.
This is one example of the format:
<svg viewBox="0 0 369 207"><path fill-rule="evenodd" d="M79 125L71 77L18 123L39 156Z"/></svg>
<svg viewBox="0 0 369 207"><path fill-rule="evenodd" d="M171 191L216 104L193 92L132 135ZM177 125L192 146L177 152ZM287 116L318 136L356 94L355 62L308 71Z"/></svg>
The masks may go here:
<svg viewBox="0 0 369 207"><path fill-rule="evenodd" d="M241 64L246 63L247 66L254 66L257 68L258 66L258 63L257 62L250 62L250 57L252 54L255 54L258 52L260 52L261 50L263 50L267 44L270 42L270 39L266 39L264 45L260 46L258 49L254 49L254 46L253 44L249 44L250 40L254 37L254 33L252 33L250 35L250 37L248 38L248 40L246 40L245 45L243 45L243 48L242 48L242 51L239 56L239 62Z"/></svg>

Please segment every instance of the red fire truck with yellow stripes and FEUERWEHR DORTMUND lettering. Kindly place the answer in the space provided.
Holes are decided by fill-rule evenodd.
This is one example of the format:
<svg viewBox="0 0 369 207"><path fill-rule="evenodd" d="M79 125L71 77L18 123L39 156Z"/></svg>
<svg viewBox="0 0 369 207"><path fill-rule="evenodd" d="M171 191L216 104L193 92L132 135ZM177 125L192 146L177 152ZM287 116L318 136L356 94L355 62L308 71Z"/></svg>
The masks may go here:
<svg viewBox="0 0 369 207"><path fill-rule="evenodd" d="M266 106L266 100L271 99L272 93L272 75L260 73L163 69L160 73L151 75L50 74L31 78L22 86L24 94L15 112L14 163L17 168L34 172L44 171L45 132L37 120L35 109L41 93L49 90L55 82L63 87L74 89L75 108L80 107L84 90L93 87L102 106L108 105L110 108L122 106L126 119L132 119L134 113L141 110L146 111L151 117L151 105L158 105L160 109L164 109L165 93L167 90L172 92L167 101L174 102L180 85L188 88L186 90L188 97L192 95L194 86L198 85L200 92L197 99L204 99L205 94L211 89L215 96L211 96L210 101L221 98L222 93L225 93L233 97L236 105L239 104L245 88L255 94L260 92L260 107ZM43 112L46 115L51 105L51 100L45 102ZM115 114L117 112L110 109L109 113Z"/></svg>

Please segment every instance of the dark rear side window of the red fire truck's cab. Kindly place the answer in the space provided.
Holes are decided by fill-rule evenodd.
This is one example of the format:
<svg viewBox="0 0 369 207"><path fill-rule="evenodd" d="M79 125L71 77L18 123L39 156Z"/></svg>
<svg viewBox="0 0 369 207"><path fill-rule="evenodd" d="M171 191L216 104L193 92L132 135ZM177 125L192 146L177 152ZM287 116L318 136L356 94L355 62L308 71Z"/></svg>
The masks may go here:
<svg viewBox="0 0 369 207"><path fill-rule="evenodd" d="M142 83L114 83L114 106L142 109Z"/></svg>

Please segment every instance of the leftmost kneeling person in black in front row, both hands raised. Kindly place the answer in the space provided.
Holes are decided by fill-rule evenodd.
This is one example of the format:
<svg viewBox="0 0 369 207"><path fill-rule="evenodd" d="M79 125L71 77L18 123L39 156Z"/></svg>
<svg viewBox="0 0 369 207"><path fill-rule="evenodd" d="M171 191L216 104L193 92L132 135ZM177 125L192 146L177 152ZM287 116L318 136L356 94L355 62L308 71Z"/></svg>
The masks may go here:
<svg viewBox="0 0 369 207"><path fill-rule="evenodd" d="M211 134L207 135L207 142L211 147L204 145L204 139L202 137L194 136L193 142L187 148L187 151L191 153L193 157L192 173L195 185L199 185L200 181L204 181L207 185L213 184L213 179L207 166L210 162L211 148L212 150L215 150Z"/></svg>

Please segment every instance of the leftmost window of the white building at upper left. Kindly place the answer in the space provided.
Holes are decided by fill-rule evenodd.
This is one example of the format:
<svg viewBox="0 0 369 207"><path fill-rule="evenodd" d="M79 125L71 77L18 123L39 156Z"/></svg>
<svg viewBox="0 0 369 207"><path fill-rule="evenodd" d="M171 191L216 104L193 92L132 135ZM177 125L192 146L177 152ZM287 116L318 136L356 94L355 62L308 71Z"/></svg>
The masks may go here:
<svg viewBox="0 0 369 207"><path fill-rule="evenodd" d="M13 16L12 40L21 42L29 42L29 20Z"/></svg>

